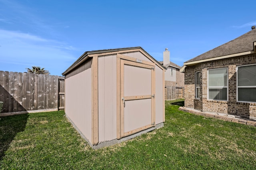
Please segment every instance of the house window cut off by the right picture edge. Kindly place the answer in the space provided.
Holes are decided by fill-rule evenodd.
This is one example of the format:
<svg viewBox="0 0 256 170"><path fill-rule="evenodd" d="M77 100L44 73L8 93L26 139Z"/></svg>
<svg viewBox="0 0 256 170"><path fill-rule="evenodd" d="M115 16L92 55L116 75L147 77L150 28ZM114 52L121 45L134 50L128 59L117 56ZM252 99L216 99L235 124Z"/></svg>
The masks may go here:
<svg viewBox="0 0 256 170"><path fill-rule="evenodd" d="M256 102L256 65L236 68L236 95L238 102Z"/></svg>

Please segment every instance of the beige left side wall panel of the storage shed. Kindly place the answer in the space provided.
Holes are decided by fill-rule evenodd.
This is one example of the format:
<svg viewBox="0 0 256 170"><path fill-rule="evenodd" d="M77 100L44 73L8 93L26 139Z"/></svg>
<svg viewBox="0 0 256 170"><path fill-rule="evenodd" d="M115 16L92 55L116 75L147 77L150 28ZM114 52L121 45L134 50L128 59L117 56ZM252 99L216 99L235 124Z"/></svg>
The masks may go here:
<svg viewBox="0 0 256 170"><path fill-rule="evenodd" d="M65 113L92 143L91 68L65 79Z"/></svg>

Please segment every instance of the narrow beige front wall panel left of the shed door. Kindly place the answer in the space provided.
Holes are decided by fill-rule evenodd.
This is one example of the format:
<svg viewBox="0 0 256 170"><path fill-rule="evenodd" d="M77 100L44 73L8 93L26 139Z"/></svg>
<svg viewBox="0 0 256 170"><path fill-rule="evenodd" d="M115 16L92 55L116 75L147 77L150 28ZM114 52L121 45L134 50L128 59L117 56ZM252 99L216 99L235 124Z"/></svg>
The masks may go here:
<svg viewBox="0 0 256 170"><path fill-rule="evenodd" d="M116 55L98 58L99 143L116 139Z"/></svg>

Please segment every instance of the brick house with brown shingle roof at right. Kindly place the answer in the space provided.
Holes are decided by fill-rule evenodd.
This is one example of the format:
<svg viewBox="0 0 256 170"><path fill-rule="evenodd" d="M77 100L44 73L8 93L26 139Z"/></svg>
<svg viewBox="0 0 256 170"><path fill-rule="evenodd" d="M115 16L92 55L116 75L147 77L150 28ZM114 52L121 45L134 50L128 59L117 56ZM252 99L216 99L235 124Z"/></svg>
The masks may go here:
<svg viewBox="0 0 256 170"><path fill-rule="evenodd" d="M184 63L185 109L256 118L254 28Z"/></svg>

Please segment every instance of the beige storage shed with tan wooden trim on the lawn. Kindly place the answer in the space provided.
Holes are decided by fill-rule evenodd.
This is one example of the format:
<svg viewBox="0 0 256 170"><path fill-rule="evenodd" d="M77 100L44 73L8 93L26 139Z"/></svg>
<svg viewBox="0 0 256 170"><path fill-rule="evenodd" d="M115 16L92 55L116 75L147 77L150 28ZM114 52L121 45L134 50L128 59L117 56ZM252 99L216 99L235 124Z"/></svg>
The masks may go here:
<svg viewBox="0 0 256 170"><path fill-rule="evenodd" d="M87 51L65 72L65 113L93 149L164 125L166 68L142 47Z"/></svg>

